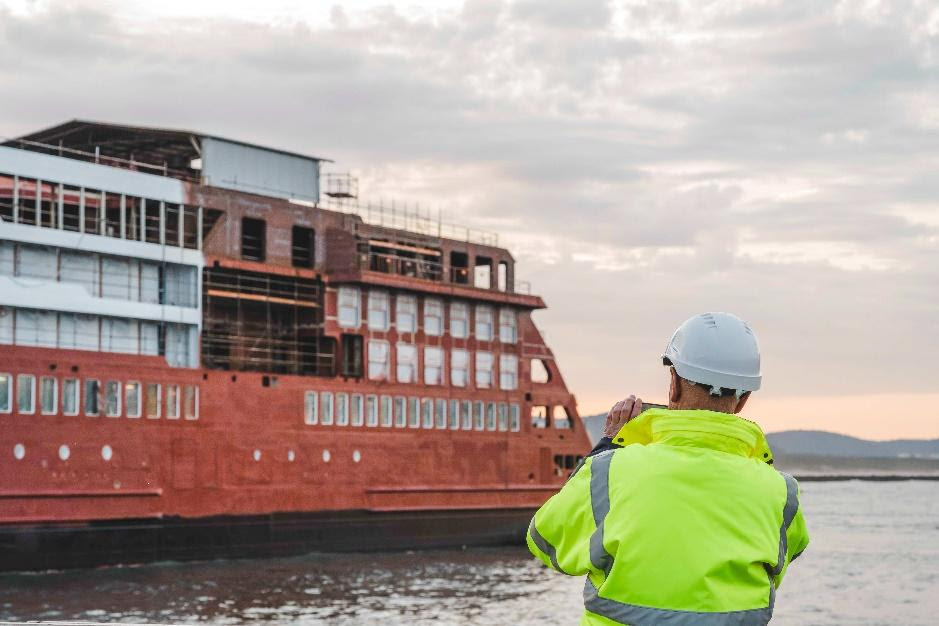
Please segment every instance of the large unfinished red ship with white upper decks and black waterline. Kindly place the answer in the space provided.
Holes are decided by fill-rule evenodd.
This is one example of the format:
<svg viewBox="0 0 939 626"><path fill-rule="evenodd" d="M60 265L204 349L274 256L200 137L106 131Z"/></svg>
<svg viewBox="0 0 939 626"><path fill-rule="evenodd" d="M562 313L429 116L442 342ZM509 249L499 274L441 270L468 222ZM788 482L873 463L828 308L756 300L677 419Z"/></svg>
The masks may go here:
<svg viewBox="0 0 939 626"><path fill-rule="evenodd" d="M497 236L325 159L0 146L0 569L516 541L589 448Z"/></svg>

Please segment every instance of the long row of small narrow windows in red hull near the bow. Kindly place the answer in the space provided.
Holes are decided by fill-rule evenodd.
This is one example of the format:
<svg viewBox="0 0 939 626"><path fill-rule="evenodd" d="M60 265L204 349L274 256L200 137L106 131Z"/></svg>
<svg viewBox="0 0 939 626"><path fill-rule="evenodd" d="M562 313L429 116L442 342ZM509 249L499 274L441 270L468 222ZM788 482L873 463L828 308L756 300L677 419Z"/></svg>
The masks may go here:
<svg viewBox="0 0 939 626"><path fill-rule="evenodd" d="M450 430L521 429L519 405L415 396L307 391L304 422L310 425L383 426Z"/></svg>

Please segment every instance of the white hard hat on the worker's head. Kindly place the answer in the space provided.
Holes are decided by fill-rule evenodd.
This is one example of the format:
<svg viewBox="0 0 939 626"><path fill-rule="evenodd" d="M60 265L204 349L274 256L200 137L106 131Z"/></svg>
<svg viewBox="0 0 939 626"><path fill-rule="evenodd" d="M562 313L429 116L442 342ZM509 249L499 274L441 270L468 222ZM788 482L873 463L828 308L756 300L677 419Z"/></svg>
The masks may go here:
<svg viewBox="0 0 939 626"><path fill-rule="evenodd" d="M730 313L702 313L672 335L662 360L695 383L734 389L737 396L760 388L760 347L746 322Z"/></svg>

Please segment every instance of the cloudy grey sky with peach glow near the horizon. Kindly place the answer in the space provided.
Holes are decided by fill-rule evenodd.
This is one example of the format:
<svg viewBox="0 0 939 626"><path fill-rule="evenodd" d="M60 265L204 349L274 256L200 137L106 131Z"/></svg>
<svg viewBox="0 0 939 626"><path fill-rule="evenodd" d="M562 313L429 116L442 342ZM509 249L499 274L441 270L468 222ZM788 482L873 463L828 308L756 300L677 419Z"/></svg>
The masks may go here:
<svg viewBox="0 0 939 626"><path fill-rule="evenodd" d="M939 437L933 2L0 0L0 81L0 136L197 129L498 232L581 414L717 310L765 430Z"/></svg>

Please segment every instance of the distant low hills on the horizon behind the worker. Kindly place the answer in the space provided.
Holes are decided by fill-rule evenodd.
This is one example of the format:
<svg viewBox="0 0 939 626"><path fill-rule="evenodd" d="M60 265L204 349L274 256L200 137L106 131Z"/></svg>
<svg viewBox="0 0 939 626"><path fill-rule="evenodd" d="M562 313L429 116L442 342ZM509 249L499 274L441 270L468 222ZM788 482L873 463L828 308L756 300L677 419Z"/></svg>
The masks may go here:
<svg viewBox="0 0 939 626"><path fill-rule="evenodd" d="M605 414L583 418L592 443L596 443L600 438L605 419ZM785 430L768 433L766 439L776 455L939 459L939 439L869 441L824 430Z"/></svg>

